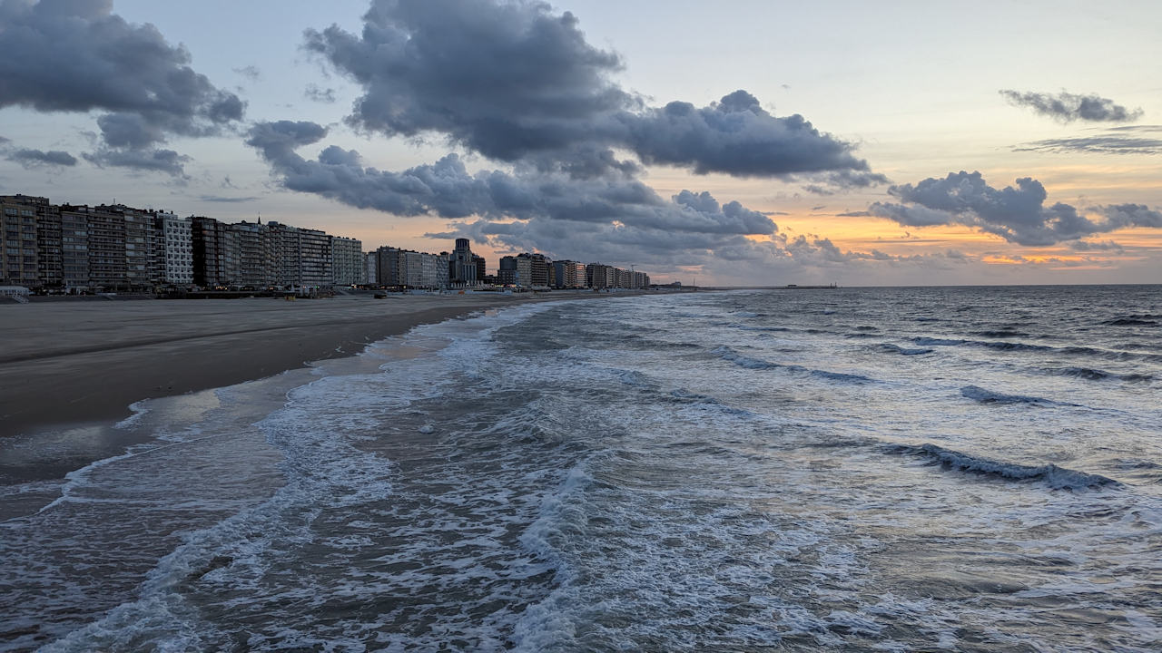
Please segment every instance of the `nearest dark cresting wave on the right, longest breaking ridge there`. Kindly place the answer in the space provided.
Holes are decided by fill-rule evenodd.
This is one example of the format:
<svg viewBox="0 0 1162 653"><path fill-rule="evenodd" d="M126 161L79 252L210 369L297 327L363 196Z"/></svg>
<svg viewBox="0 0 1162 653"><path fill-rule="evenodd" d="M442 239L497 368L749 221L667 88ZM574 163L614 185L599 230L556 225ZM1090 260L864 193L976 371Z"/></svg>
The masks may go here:
<svg viewBox="0 0 1162 653"><path fill-rule="evenodd" d="M919 446L894 444L884 445L882 449L887 453L927 459L930 464L940 465L946 469L955 469L957 472L978 474L982 476L992 476L1006 481L1042 482L1053 489L1075 490L1121 486L1118 481L1099 474L1089 474L1076 469L1057 467L1053 464L1019 465L1016 462L1004 462L989 458L969 455L967 453L944 449L934 444L923 444Z"/></svg>

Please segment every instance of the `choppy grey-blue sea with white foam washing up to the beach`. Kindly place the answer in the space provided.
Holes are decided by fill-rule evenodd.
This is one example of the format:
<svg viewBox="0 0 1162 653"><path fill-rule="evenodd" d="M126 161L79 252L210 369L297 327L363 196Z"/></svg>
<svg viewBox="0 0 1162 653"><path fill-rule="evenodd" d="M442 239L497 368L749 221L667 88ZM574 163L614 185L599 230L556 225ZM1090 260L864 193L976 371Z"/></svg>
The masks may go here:
<svg viewBox="0 0 1162 653"><path fill-rule="evenodd" d="M521 304L132 408L0 445L0 650L1162 650L1162 286Z"/></svg>

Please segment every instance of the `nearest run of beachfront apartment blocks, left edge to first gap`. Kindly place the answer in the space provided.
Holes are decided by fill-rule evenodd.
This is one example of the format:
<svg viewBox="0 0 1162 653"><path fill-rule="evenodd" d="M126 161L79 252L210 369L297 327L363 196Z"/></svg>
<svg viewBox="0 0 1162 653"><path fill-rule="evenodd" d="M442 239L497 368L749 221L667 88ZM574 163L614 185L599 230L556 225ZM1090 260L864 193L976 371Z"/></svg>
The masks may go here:
<svg viewBox="0 0 1162 653"><path fill-rule="evenodd" d="M0 196L0 285L62 290L363 284L363 245L278 222Z"/></svg>

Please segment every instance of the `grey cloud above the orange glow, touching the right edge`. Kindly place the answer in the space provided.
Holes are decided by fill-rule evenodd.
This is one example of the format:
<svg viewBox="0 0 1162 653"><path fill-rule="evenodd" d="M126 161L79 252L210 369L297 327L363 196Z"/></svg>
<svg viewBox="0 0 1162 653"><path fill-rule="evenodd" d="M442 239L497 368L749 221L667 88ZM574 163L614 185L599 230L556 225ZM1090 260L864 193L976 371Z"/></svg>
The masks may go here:
<svg viewBox="0 0 1162 653"><path fill-rule="evenodd" d="M899 202L876 202L869 211L905 227L963 224L1020 245L1041 246L1077 241L1129 227L1162 228L1162 214L1142 204L1092 207L1083 215L1064 203L1045 206L1048 194L1035 179L994 188L980 172L949 173L888 191Z"/></svg>

